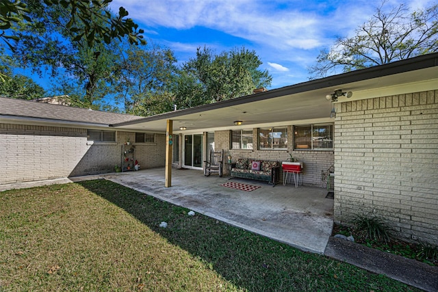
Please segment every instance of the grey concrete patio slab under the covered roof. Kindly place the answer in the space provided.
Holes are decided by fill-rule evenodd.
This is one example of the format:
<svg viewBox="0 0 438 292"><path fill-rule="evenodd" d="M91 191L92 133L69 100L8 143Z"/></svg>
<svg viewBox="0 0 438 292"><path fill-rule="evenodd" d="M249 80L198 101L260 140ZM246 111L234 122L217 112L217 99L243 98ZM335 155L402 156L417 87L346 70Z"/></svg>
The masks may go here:
<svg viewBox="0 0 438 292"><path fill-rule="evenodd" d="M172 170L172 187L164 187L164 174L164 168L155 168L100 177L300 250L324 254L333 229L333 200L325 198L326 189L294 184L272 187L233 178L261 186L240 191L220 186L229 177L204 176L200 170Z"/></svg>

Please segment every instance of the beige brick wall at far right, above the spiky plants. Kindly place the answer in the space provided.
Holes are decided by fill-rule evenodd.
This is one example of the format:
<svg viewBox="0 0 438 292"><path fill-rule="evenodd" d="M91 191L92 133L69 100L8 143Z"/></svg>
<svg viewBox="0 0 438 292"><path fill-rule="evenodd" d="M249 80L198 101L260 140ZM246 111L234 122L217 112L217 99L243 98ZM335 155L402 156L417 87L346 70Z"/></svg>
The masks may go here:
<svg viewBox="0 0 438 292"><path fill-rule="evenodd" d="M338 104L335 161L335 222L372 214L438 242L438 91Z"/></svg>

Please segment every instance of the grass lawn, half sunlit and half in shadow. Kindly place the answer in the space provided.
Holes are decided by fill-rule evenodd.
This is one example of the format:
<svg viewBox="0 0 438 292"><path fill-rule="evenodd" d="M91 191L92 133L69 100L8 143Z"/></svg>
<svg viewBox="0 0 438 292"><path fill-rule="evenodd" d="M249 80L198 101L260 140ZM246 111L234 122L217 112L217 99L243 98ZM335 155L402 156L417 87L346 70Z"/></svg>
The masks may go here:
<svg viewBox="0 0 438 292"><path fill-rule="evenodd" d="M109 181L3 191L0 291L418 291L188 211Z"/></svg>

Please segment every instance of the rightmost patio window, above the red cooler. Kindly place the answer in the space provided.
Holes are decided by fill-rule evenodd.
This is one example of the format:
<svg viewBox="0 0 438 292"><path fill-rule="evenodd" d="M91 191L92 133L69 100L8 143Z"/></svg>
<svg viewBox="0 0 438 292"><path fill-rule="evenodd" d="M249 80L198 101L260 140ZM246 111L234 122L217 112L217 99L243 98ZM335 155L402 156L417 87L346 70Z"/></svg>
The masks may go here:
<svg viewBox="0 0 438 292"><path fill-rule="evenodd" d="M295 150L333 150L333 124L295 126Z"/></svg>

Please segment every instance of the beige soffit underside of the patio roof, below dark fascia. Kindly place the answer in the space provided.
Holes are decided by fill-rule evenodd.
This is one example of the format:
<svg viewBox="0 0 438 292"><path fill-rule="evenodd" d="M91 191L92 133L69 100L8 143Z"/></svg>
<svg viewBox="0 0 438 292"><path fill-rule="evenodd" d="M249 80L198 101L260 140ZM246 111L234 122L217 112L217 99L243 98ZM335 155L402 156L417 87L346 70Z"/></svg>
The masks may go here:
<svg viewBox="0 0 438 292"><path fill-rule="evenodd" d="M305 84L302 83L303 88ZM308 87L308 86L307 86ZM292 85L279 90L272 90L213 105L181 110L145 118L131 124L115 125L116 129L127 131L152 131L163 133L166 131L166 122L173 120L173 129L179 133L179 127L186 127L190 131L211 131L212 129L246 129L260 127L263 124L281 124L287 121L330 121L329 116L332 104L326 101L326 94L342 89L344 92L353 92L352 98L342 96L339 103L345 101L406 94L426 90L438 90L438 68L433 66L421 70L402 72L361 81L348 83L326 82L325 86L312 90L305 88L300 92L300 84ZM292 94L287 92L293 91ZM285 94L283 94L285 92ZM271 96L269 96L271 94ZM268 96L267 98L263 98ZM220 107L220 105L223 107ZM242 120L243 124L237 127L235 120Z"/></svg>

